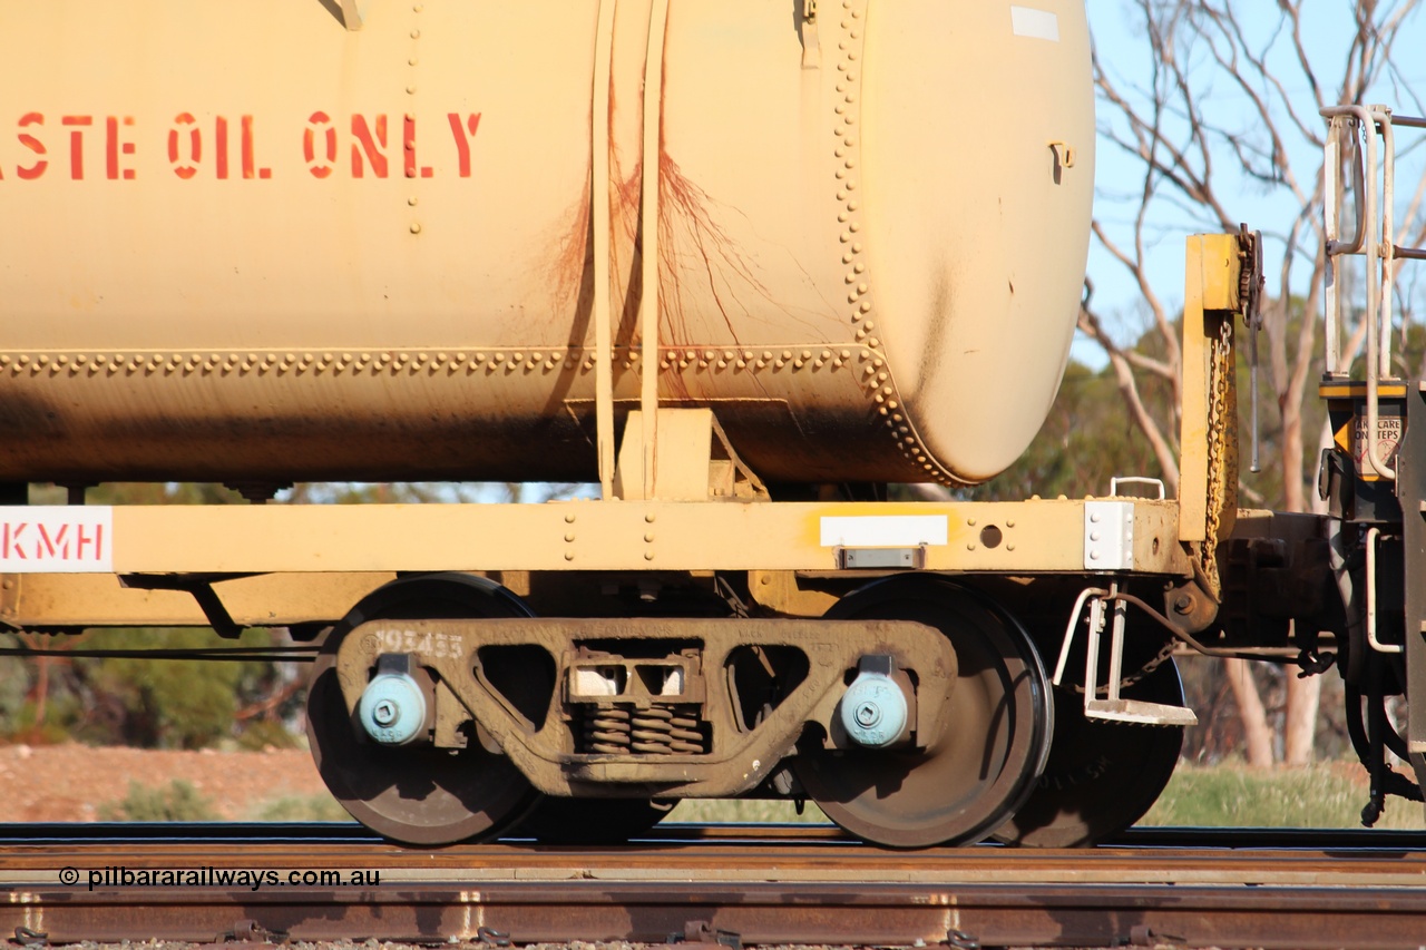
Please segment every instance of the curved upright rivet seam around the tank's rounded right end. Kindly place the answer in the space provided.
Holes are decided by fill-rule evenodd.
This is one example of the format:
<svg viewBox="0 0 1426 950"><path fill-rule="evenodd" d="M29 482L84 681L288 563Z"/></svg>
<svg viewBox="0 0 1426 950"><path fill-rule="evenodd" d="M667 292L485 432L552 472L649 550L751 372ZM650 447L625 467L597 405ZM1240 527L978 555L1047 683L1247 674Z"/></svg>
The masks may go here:
<svg viewBox="0 0 1426 950"><path fill-rule="evenodd" d="M881 352L877 334L876 308L873 305L873 282L867 272L868 262L863 240L863 211L858 170L861 167L861 66L866 44L867 0L841 0L841 39L837 43L836 96L833 97L833 134L836 144L833 155L834 187L837 190L837 225L841 242L841 262L846 267L847 307L851 315L851 332L861 352L861 371L856 379L871 401L873 412L883 421L887 432L896 439L897 449L908 462L920 468L928 478L941 484L955 484L937 465L915 428L901 411L891 368Z"/></svg>

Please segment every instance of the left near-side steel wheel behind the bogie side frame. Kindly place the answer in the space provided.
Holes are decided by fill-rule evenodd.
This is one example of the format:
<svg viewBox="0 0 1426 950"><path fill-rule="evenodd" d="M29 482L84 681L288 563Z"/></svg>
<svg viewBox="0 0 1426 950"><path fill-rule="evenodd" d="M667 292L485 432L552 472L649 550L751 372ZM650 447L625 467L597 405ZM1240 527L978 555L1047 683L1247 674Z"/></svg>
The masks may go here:
<svg viewBox="0 0 1426 950"><path fill-rule="evenodd" d="M385 747L364 740L337 682L337 650L372 619L529 616L505 588L469 575L389 583L358 603L322 643L307 696L307 737L317 770L354 819L406 844L493 837L525 816L538 793L501 755L472 736L466 749Z"/></svg>

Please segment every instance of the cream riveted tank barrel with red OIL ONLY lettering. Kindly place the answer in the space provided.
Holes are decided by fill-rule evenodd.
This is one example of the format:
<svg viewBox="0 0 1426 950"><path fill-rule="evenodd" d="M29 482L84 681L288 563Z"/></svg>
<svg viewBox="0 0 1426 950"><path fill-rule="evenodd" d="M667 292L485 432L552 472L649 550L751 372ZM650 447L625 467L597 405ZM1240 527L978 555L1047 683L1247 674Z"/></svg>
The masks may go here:
<svg viewBox="0 0 1426 950"><path fill-rule="evenodd" d="M1084 272L1082 0L652 7L3 0L0 481L593 479L605 301L617 418L657 358L766 479L1011 464Z"/></svg>

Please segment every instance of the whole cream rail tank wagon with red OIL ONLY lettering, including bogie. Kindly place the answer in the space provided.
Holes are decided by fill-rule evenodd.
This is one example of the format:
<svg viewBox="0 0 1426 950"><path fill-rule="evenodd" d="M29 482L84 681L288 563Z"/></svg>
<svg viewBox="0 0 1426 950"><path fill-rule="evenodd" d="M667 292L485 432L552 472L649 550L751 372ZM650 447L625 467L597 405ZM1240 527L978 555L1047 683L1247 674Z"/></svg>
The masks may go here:
<svg viewBox="0 0 1426 950"><path fill-rule="evenodd" d="M1077 0L0 21L6 622L321 636L318 767L416 844L622 836L690 796L1068 844L1162 789L1192 715L1128 589L1206 626L1231 492L883 492L995 475L1054 399L1094 165ZM78 504L314 479L600 498Z"/></svg>

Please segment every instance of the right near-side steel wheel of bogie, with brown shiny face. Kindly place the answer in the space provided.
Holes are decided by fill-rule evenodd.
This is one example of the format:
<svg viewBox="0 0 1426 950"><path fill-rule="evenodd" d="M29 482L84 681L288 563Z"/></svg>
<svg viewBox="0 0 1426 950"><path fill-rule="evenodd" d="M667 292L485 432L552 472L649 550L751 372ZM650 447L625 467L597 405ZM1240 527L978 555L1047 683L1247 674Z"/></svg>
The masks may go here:
<svg viewBox="0 0 1426 950"><path fill-rule="evenodd" d="M940 739L921 752L820 747L794 770L853 834L893 847L971 843L1010 817L1050 750L1044 668L1015 620L944 578L901 575L840 601L829 619L918 620L955 648L958 675Z"/></svg>

